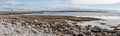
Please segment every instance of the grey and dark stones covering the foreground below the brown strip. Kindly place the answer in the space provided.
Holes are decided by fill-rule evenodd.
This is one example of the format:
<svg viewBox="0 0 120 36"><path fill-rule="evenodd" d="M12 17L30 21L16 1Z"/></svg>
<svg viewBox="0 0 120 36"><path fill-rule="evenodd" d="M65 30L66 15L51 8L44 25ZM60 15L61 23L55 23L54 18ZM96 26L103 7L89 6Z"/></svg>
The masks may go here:
<svg viewBox="0 0 120 36"><path fill-rule="evenodd" d="M11 21L11 20L9 20ZM108 30L108 29L102 29L99 26L94 26L92 25L87 25L87 26L82 26L82 25L77 25L76 23L74 24L68 24L68 23L61 23L61 22L53 22L53 23L40 23L37 20L34 20L35 22L31 21L25 21L25 22L19 22L12 20L11 25L8 21L6 23L0 24L0 28L4 25L5 29L2 29L3 32L6 32L8 35L30 35L30 36L41 36L40 34L50 34L52 36L103 36L103 35L108 35L110 33L110 36L116 32L116 30ZM18 23L16 23L18 22ZM37 23L38 22L38 23ZM9 25L8 25L9 23ZM103 24L104 25L104 24ZM7 28L5 27L7 26ZM18 27L19 26L19 27ZM15 29L14 29L15 28ZM117 29L119 27L116 27ZM7 29L7 30L6 30ZM8 30L11 29L11 30ZM1 30L0 30L1 31ZM14 33L16 32L16 33ZM5 33L5 34L6 34ZM114 35L115 35L114 34ZM119 32L117 32L116 35L119 35ZM48 35L49 36L49 35Z"/></svg>

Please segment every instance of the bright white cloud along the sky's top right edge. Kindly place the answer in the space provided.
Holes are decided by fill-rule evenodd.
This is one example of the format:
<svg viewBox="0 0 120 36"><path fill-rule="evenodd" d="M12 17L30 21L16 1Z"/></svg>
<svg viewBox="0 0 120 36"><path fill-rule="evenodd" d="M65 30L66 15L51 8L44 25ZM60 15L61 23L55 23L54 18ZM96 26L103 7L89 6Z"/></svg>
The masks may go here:
<svg viewBox="0 0 120 36"><path fill-rule="evenodd" d="M72 4L114 4L120 0L71 0Z"/></svg>

